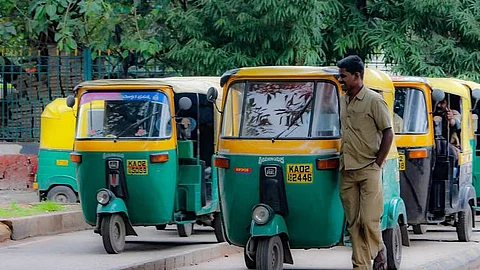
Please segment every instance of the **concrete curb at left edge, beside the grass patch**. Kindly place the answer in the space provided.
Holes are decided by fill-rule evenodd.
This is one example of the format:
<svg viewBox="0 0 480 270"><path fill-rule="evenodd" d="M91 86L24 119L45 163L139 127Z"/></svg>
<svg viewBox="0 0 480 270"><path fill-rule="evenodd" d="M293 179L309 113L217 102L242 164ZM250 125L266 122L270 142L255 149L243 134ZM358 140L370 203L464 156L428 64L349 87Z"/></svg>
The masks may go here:
<svg viewBox="0 0 480 270"><path fill-rule="evenodd" d="M12 240L21 240L28 237L60 234L91 229L81 211L58 212L37 216L1 219L11 230ZM2 237L0 237L2 238Z"/></svg>

